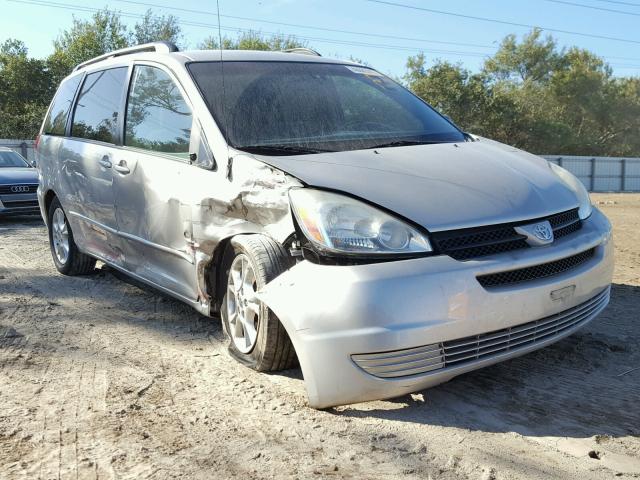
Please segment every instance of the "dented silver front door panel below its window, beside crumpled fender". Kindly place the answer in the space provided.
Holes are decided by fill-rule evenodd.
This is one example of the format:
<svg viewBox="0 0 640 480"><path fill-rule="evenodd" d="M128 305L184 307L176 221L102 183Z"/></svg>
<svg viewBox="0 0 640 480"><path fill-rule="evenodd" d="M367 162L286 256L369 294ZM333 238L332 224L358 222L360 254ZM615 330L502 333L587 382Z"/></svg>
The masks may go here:
<svg viewBox="0 0 640 480"><path fill-rule="evenodd" d="M129 173L114 172L116 215L127 269L193 301L197 298L190 247L193 168L134 150L120 157ZM199 170L199 173L207 173Z"/></svg>

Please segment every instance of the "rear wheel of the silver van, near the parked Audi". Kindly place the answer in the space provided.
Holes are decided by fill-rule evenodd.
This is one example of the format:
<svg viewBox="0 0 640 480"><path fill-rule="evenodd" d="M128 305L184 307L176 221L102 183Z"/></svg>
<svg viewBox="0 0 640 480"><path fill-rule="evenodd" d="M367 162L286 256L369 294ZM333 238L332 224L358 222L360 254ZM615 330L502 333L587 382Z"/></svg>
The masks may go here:
<svg viewBox="0 0 640 480"><path fill-rule="evenodd" d="M56 269L63 275L91 273L96 266L96 260L78 250L67 215L57 197L49 206L47 226L51 256Z"/></svg>

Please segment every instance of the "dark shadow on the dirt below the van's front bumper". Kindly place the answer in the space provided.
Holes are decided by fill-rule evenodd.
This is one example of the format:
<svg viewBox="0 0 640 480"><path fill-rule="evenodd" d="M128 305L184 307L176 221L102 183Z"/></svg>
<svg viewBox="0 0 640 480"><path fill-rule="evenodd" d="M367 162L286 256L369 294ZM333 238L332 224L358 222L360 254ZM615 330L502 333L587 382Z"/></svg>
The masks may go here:
<svg viewBox="0 0 640 480"><path fill-rule="evenodd" d="M335 415L528 436L640 435L640 287L578 333L417 394L332 409Z"/></svg>

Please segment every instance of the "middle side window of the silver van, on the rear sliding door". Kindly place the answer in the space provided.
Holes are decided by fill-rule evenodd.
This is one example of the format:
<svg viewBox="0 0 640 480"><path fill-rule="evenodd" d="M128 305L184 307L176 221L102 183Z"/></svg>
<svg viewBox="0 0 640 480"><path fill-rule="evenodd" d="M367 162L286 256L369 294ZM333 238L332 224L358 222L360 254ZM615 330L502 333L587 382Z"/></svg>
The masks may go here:
<svg viewBox="0 0 640 480"><path fill-rule="evenodd" d="M87 75L73 113L72 137L116 143L118 112L126 79L126 67Z"/></svg>

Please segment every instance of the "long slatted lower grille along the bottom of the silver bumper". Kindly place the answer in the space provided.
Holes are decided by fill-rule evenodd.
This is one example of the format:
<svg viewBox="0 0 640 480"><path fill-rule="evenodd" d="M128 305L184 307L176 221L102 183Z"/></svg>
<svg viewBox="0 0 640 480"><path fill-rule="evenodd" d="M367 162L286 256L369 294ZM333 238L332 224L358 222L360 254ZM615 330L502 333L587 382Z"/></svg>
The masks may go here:
<svg viewBox="0 0 640 480"><path fill-rule="evenodd" d="M351 355L362 370L380 378L440 372L477 363L541 342L559 340L592 320L609 303L610 289L563 312L514 327L391 352Z"/></svg>

